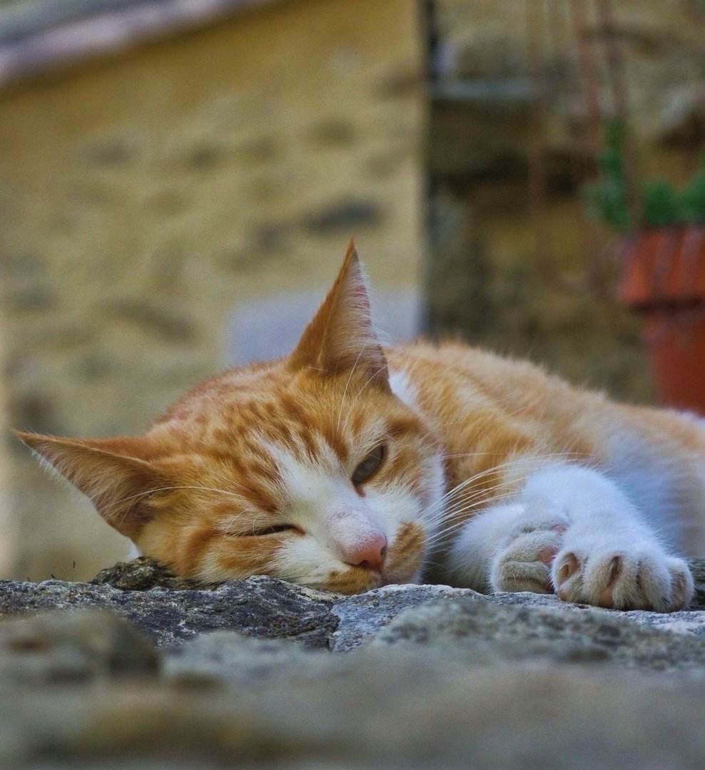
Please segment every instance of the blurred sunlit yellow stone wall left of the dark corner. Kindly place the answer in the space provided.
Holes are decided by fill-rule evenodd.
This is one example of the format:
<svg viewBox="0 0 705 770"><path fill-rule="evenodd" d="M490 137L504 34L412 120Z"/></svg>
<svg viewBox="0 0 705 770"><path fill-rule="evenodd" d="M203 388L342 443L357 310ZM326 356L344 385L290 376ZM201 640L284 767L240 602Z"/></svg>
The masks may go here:
<svg viewBox="0 0 705 770"><path fill-rule="evenodd" d="M417 11L277 2L0 92L9 426L146 429L223 367L234 308L322 296L351 234L376 285L414 282ZM81 578L125 553L7 427L2 459L16 537L0 576Z"/></svg>

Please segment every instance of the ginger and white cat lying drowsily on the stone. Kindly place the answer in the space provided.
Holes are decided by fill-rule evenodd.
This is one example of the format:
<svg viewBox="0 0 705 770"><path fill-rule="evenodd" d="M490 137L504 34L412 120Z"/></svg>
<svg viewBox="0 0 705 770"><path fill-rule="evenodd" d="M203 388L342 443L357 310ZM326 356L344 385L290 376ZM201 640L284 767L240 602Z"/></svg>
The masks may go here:
<svg viewBox="0 0 705 770"><path fill-rule="evenodd" d="M703 424L457 344L382 350L351 243L289 357L206 381L142 437L18 435L186 577L673 611L681 556L705 554Z"/></svg>

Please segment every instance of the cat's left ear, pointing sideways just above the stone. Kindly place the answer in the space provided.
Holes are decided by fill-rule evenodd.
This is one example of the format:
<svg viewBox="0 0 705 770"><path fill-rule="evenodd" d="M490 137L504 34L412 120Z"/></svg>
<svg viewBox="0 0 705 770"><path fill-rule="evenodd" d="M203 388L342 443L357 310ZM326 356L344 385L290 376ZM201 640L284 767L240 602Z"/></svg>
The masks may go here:
<svg viewBox="0 0 705 770"><path fill-rule="evenodd" d="M146 459L146 440L73 439L15 431L43 465L69 480L92 500L120 534L134 539L149 520L150 491L168 486Z"/></svg>

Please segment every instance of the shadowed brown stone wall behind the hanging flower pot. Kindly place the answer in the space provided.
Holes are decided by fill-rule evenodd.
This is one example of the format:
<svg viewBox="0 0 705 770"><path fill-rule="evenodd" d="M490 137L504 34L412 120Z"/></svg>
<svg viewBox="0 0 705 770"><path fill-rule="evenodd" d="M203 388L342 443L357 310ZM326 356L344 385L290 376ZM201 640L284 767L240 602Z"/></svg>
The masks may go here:
<svg viewBox="0 0 705 770"><path fill-rule="evenodd" d="M609 233L582 217L576 189L589 100L562 0L437 0L437 80L428 164L435 182L429 322L437 336L548 363L572 380L630 400L653 400L634 319L586 286ZM586 41L599 26L585 2ZM683 179L705 149L705 8L688 0L613 0L623 59L631 152L642 176ZM500 12L501 9L501 12ZM549 196L540 240L555 260L542 275L528 206L532 139L527 11L543 15L546 92L542 143ZM550 34L549 34L550 32ZM604 73L604 49L593 49ZM602 81L604 85L604 80ZM601 90L609 111L609 89ZM574 290L551 283L558 274Z"/></svg>

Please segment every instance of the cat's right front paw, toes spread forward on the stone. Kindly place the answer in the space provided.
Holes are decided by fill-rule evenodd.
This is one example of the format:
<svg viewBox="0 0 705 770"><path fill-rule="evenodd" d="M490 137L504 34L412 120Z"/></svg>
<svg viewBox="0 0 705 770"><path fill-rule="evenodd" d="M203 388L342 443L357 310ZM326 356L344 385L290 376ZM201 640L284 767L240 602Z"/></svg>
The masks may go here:
<svg viewBox="0 0 705 770"><path fill-rule="evenodd" d="M552 581L563 601L618 610L673 612L693 598L693 576L683 559L652 544L566 544Z"/></svg>

